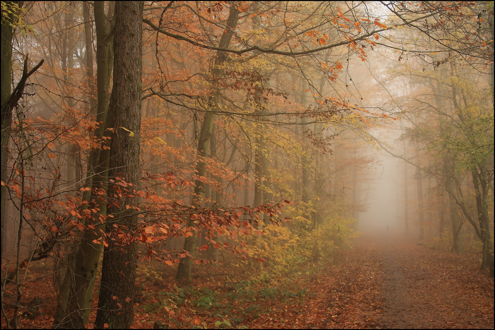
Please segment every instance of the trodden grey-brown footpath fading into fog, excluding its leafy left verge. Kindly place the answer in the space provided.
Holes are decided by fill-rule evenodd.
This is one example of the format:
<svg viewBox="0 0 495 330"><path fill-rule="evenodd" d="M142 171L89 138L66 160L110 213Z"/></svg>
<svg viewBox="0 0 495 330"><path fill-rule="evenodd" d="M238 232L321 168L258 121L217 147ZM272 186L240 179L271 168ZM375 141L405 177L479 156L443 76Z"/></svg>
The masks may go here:
<svg viewBox="0 0 495 330"><path fill-rule="evenodd" d="M363 240L373 244L371 238ZM379 326L493 328L493 279L478 270L476 256L418 244L402 235L378 240L385 310Z"/></svg>

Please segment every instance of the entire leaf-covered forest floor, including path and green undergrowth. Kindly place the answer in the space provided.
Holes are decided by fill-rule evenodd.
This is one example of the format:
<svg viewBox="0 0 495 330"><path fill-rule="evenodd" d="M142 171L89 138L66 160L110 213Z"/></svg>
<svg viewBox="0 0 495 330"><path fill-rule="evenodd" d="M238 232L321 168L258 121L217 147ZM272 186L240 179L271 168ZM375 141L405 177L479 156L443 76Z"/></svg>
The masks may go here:
<svg viewBox="0 0 495 330"><path fill-rule="evenodd" d="M149 329L161 321L191 329L195 320L195 328L210 329L494 328L494 280L478 269L478 255L392 234L360 236L352 246L321 271L290 279L233 279L225 275L233 270L224 267L212 277L203 267L193 273L193 285L180 287L170 281L172 269L161 270L161 281L155 272L140 272L131 328ZM42 313L21 316L23 329L50 328L53 321L52 277L39 272L29 275L23 293L26 301L41 298ZM98 290L93 300L96 308ZM5 307L11 315L13 309ZM90 319L95 315L96 310Z"/></svg>

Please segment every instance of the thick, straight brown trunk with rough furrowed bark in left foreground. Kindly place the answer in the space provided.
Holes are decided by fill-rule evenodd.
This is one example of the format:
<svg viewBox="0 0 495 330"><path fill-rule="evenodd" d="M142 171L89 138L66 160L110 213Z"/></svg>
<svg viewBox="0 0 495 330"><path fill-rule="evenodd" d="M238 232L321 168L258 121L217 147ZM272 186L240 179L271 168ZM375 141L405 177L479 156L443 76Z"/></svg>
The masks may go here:
<svg viewBox="0 0 495 330"><path fill-rule="evenodd" d="M126 196L125 190L132 194L139 176L143 6L144 1L118 1L115 6L114 56L119 60L113 70L111 103L117 134L112 135L110 142L108 177L115 182L119 182L117 177L120 177L132 186L109 187L108 213L115 217L107 223L107 233L114 224L126 231L133 230L137 223L132 207L126 208L126 205L137 205L137 198ZM123 127L134 134L129 134ZM108 246L104 248L95 325L97 328L129 329L134 316L137 247L136 243L120 247L115 242L108 239ZM126 301L126 298L131 299Z"/></svg>

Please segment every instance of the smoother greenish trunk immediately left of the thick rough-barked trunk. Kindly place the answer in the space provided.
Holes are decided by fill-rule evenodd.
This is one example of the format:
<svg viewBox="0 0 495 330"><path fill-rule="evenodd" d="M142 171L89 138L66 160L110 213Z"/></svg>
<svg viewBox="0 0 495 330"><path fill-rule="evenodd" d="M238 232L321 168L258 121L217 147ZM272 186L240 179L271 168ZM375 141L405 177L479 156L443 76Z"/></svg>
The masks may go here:
<svg viewBox="0 0 495 330"><path fill-rule="evenodd" d="M108 16L113 16L114 1L110 2ZM95 132L101 140L106 128L112 127L111 117L108 116L108 87L113 63L113 33L107 24L103 1L95 1L95 26L97 32L97 65L98 65L98 110L97 121L103 122ZM108 117L108 119L107 119ZM115 126L113 126L115 127ZM105 133L109 136L109 133ZM96 231L105 230L99 215L106 215L106 204L102 202L106 195L99 195L95 189L102 189L106 194L108 177L109 150L94 148L88 157L88 176L86 187L93 188L87 196L91 205L99 208L92 224ZM99 199L100 198L100 199ZM98 202L100 200L100 202ZM98 205L95 205L97 203ZM86 226L89 225L85 224ZM59 299L55 312L54 328L83 328L88 323L91 298L95 286L95 278L99 266L102 245L93 242L93 231L84 232L78 244L72 247L66 265L72 265L59 288ZM67 276L68 275L68 276Z"/></svg>

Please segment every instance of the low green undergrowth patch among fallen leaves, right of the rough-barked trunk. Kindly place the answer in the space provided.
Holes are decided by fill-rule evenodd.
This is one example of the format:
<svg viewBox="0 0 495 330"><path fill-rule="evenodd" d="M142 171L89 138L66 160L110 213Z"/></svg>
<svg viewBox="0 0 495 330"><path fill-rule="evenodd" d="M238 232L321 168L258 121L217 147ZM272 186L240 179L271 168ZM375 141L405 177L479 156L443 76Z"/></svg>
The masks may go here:
<svg viewBox="0 0 495 330"><path fill-rule="evenodd" d="M174 286L173 290L155 292L151 301L142 304L140 308L143 313L167 321L173 327L247 329L245 323L271 313L274 304L300 305L307 295L300 281L272 283L258 278L229 281L215 289L206 286ZM151 294L148 294L148 298L151 298ZM189 316L181 318L181 314ZM201 323L195 325L191 314L198 315Z"/></svg>

